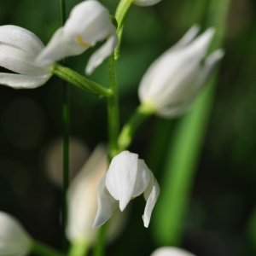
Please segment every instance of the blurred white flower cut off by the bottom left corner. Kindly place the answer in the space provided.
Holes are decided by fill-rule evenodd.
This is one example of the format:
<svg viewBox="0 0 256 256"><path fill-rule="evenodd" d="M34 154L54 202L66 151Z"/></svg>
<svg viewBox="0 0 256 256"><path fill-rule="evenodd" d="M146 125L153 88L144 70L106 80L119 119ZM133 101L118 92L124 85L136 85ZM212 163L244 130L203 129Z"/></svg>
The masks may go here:
<svg viewBox="0 0 256 256"><path fill-rule="evenodd" d="M20 223L9 214L0 212L0 255L25 256L32 240Z"/></svg>

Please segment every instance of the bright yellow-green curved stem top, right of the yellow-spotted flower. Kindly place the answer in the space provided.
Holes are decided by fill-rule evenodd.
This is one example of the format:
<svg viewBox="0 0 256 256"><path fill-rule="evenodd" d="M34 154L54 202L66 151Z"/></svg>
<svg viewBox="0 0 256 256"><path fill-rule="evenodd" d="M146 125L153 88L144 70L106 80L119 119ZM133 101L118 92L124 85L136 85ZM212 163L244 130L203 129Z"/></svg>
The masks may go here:
<svg viewBox="0 0 256 256"><path fill-rule="evenodd" d="M121 47L121 41L122 41L122 35L123 35L123 30L124 30L124 22L125 22L125 17L131 8L131 4L134 2L134 0L121 0L119 2L119 6L116 9L115 12L115 19L118 22L118 28L117 28L117 33L119 36L119 44L117 48L114 51L114 58L117 60L119 58L119 50Z"/></svg>

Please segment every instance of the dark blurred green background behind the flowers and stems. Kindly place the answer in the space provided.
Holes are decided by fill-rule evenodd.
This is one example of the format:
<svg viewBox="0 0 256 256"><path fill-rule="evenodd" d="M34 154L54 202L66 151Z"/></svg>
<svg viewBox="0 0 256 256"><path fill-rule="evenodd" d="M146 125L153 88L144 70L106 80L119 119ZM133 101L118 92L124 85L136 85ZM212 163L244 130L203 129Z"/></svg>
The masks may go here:
<svg viewBox="0 0 256 256"><path fill-rule="evenodd" d="M79 2L67 0L67 14ZM101 2L112 14L119 3ZM122 124L137 107L137 86L149 64L190 26L203 26L207 3L163 0L154 7L132 7L118 63ZM61 24L59 1L2 0L0 23L26 27L47 44ZM199 256L256 254L255 24L256 1L232 0L225 57L180 244ZM93 50L70 58L68 65L84 73ZM105 85L107 64L92 75ZM70 108L76 170L86 151L107 142L107 116L104 100L76 88L70 88ZM148 162L160 184L178 121L148 120L131 145L131 151ZM61 133L59 79L52 78L36 90L0 87L0 210L14 214L32 236L54 247L61 247L61 189L50 181L48 159ZM107 255L149 255L163 245L155 235L154 213L153 224L148 230L143 228L143 207L143 198L131 203L125 230L108 247Z"/></svg>

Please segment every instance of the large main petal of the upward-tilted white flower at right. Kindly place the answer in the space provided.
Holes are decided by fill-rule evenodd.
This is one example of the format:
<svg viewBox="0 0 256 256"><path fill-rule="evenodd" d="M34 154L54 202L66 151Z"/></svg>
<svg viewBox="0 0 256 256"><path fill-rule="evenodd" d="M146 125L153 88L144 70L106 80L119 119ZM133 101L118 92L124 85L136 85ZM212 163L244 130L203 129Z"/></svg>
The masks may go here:
<svg viewBox="0 0 256 256"><path fill-rule="evenodd" d="M158 110L166 105L183 105L183 96L194 90L214 30L209 28L191 44L167 50L148 68L139 86L141 102L150 102Z"/></svg>

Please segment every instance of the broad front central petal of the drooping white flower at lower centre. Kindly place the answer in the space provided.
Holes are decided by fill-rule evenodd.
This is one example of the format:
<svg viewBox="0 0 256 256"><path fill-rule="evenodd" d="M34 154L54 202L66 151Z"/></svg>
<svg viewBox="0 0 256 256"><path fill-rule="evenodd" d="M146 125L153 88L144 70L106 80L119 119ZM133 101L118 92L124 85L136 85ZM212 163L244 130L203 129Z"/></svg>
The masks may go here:
<svg viewBox="0 0 256 256"><path fill-rule="evenodd" d="M116 155L107 172L106 186L113 198L119 201L123 212L134 192L137 178L138 155L123 151Z"/></svg>

